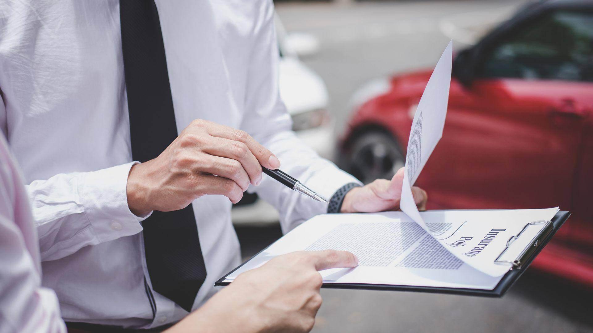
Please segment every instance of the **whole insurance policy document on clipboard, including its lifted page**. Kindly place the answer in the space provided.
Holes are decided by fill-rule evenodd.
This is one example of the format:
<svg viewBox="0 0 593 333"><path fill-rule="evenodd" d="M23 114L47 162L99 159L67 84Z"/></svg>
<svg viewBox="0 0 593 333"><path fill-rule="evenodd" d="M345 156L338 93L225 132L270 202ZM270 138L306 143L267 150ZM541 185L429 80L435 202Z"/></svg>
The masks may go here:
<svg viewBox="0 0 593 333"><path fill-rule="evenodd" d="M494 289L512 267L502 261L514 261L546 225L530 223L549 221L559 209L418 211L411 186L442 136L451 62L449 43L412 122L401 212L315 216L229 274L225 281L278 255L337 249L356 254L359 265L322 271L324 283ZM522 240L512 242L503 252L509 239L522 230Z"/></svg>

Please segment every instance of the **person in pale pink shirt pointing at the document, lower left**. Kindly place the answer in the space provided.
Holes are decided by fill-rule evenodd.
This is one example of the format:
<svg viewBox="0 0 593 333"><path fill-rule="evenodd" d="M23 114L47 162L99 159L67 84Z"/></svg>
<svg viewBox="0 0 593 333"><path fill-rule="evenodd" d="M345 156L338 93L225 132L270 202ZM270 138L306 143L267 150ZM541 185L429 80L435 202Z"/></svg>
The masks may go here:
<svg viewBox="0 0 593 333"><path fill-rule="evenodd" d="M0 332L65 332L56 294L40 286L37 233L21 178L0 135ZM238 276L170 332L310 331L321 305L316 270L356 261L333 250L274 258Z"/></svg>

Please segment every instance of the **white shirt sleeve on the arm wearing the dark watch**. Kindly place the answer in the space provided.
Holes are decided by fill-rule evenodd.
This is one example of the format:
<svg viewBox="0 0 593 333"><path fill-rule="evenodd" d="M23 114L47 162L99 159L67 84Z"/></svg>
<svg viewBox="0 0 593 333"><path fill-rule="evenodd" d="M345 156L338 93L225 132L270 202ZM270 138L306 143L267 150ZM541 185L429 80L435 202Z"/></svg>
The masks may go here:
<svg viewBox="0 0 593 333"><path fill-rule="evenodd" d="M329 199L343 185L359 181L318 156L292 132L291 116L279 95L279 50L274 8L271 0L261 3L256 15L256 33L247 79L246 114L241 129L278 156L282 171ZM327 212L326 203L313 201L270 177L264 176L262 184L252 186L250 191L255 191L278 209L283 232Z"/></svg>

